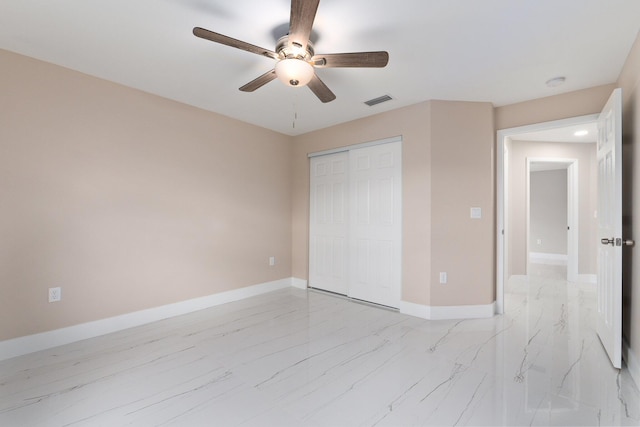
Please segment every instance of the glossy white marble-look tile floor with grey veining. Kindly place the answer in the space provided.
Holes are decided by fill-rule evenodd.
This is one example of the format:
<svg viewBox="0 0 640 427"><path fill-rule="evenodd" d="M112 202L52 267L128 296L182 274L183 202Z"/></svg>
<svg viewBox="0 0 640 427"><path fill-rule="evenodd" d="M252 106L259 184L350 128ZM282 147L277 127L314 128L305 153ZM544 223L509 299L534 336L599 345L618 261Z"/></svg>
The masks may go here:
<svg viewBox="0 0 640 427"><path fill-rule="evenodd" d="M514 278L426 321L286 289L0 362L0 426L640 425L593 285Z"/></svg>

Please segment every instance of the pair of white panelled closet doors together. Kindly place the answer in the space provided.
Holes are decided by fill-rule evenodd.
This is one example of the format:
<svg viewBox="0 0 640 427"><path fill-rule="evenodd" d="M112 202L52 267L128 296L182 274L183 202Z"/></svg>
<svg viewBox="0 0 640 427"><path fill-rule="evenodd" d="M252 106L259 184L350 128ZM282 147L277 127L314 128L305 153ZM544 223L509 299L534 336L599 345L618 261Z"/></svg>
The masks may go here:
<svg viewBox="0 0 640 427"><path fill-rule="evenodd" d="M309 286L398 307L401 143L311 158Z"/></svg>

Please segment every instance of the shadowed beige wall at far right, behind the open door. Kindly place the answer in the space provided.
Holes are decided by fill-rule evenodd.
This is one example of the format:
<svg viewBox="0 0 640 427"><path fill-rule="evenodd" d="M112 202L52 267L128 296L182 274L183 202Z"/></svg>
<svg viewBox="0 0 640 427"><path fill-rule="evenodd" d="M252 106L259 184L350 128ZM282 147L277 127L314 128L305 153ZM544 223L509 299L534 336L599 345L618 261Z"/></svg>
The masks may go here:
<svg viewBox="0 0 640 427"><path fill-rule="evenodd" d="M627 58L618 84L623 96L623 238L634 239L634 248L623 250L623 335L635 361L640 384L640 34ZM628 359L627 359L628 360Z"/></svg>

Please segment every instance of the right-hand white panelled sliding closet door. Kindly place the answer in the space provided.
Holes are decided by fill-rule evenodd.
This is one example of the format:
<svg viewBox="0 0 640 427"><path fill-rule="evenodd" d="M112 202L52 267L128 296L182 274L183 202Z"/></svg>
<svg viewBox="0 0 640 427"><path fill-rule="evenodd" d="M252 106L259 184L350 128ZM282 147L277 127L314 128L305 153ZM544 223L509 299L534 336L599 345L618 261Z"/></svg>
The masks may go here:
<svg viewBox="0 0 640 427"><path fill-rule="evenodd" d="M401 143L349 153L349 296L398 307L401 293Z"/></svg>

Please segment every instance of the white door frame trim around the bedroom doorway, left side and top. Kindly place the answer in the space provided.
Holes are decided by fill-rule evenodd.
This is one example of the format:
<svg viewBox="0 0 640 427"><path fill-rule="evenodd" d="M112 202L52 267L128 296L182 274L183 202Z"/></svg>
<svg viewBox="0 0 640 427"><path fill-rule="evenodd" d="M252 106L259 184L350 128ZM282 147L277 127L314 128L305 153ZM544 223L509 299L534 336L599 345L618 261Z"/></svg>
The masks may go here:
<svg viewBox="0 0 640 427"><path fill-rule="evenodd" d="M508 138L514 135L528 132L555 129L565 126L573 126L584 123L592 123L598 120L598 114L571 117L561 120L535 123L512 128L499 129L496 136L496 314L504 313L504 285L505 285L505 242L507 230L505 229L505 147Z"/></svg>

